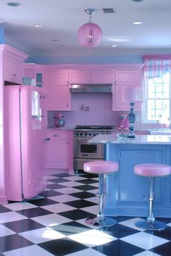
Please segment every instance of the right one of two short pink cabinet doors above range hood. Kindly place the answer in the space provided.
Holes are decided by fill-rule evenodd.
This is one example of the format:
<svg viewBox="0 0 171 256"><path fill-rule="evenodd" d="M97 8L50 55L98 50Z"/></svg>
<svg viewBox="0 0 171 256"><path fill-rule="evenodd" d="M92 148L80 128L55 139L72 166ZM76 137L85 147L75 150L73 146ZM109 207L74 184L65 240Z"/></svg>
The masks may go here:
<svg viewBox="0 0 171 256"><path fill-rule="evenodd" d="M91 81L92 83L112 83L113 71L112 70L92 70Z"/></svg>

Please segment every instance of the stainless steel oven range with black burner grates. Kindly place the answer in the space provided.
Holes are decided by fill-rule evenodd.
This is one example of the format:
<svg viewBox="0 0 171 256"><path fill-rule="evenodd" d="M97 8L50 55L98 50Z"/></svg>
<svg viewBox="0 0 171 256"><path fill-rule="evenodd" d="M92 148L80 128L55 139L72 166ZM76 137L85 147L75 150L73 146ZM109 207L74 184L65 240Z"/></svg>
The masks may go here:
<svg viewBox="0 0 171 256"><path fill-rule="evenodd" d="M88 161L104 160L104 144L91 144L88 141L98 134L111 133L113 126L89 125L75 127L74 160L75 173L83 170L83 164Z"/></svg>

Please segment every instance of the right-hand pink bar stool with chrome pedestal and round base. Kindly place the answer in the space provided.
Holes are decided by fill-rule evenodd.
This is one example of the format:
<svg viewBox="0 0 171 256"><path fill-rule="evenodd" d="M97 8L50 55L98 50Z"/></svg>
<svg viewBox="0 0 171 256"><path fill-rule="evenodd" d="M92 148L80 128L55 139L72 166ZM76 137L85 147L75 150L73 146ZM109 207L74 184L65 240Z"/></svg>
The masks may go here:
<svg viewBox="0 0 171 256"><path fill-rule="evenodd" d="M141 220L135 223L138 228L146 230L163 230L167 227L162 221L158 221L154 218L153 206L154 206L154 178L170 175L170 165L162 165L157 163L146 163L142 165L135 165L134 173L139 176L150 177L150 194L149 194L149 216L146 220Z"/></svg>

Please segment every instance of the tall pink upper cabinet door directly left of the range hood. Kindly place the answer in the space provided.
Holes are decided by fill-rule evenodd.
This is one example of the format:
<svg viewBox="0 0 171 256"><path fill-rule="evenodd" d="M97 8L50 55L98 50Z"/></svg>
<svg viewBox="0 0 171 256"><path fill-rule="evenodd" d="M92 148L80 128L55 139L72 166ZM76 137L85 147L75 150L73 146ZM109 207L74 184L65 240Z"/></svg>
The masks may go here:
<svg viewBox="0 0 171 256"><path fill-rule="evenodd" d="M49 71L48 110L70 110L69 70Z"/></svg>

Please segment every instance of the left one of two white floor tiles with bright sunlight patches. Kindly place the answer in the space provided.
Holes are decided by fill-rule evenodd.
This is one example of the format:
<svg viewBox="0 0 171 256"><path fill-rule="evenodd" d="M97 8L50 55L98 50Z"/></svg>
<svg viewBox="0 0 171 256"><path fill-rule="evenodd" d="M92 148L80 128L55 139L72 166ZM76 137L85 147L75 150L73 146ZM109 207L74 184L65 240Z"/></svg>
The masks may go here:
<svg viewBox="0 0 171 256"><path fill-rule="evenodd" d="M38 228L36 230L25 231L19 233L20 236L25 237L29 241L32 241L34 244L43 243L44 241L50 241L54 239L61 239L64 237L63 234L55 231L52 228Z"/></svg>

